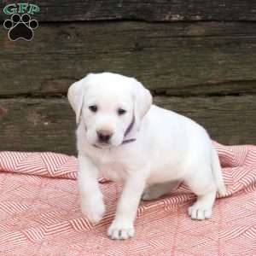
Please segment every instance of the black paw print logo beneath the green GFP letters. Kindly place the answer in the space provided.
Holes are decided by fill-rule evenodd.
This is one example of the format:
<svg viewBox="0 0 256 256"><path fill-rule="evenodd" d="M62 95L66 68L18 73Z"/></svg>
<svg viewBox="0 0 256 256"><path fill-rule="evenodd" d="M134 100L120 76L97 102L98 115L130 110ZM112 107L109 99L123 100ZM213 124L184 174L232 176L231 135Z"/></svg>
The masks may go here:
<svg viewBox="0 0 256 256"><path fill-rule="evenodd" d="M4 28L9 30L9 39L16 41L23 39L31 41L34 36L34 29L38 28L38 21L32 20L30 15L18 15L14 14L10 20L5 20L3 23Z"/></svg>

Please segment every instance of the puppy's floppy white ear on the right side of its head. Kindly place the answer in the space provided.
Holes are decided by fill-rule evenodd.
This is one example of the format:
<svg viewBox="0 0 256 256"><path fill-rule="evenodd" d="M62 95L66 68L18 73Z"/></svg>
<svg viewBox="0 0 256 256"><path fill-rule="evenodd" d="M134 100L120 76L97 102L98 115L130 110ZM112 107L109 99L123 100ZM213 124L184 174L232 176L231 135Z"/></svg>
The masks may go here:
<svg viewBox="0 0 256 256"><path fill-rule="evenodd" d="M137 79L132 79L132 91L134 97L134 114L139 129L144 115L148 112L152 105L152 96L150 91L146 89Z"/></svg>

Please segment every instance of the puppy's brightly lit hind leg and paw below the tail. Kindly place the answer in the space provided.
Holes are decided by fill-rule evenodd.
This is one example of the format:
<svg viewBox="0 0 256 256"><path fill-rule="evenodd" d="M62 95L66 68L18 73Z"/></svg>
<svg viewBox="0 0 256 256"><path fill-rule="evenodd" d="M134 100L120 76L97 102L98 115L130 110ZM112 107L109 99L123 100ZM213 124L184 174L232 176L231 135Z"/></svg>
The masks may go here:
<svg viewBox="0 0 256 256"><path fill-rule="evenodd" d="M217 192L211 166L201 165L193 171L189 177L185 178L185 183L197 195L197 200L189 207L189 216L199 220L211 218Z"/></svg>

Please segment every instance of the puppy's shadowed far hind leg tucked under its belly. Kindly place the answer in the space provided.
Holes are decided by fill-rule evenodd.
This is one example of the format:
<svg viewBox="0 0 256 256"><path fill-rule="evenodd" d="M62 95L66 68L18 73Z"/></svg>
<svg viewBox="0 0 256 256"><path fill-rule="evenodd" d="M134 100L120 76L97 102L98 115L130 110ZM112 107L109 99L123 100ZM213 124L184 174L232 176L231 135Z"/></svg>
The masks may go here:
<svg viewBox="0 0 256 256"><path fill-rule="evenodd" d="M143 201L154 200L161 195L166 195L172 190L177 189L180 181L172 181L167 183L155 183L148 188L144 189L142 199Z"/></svg>

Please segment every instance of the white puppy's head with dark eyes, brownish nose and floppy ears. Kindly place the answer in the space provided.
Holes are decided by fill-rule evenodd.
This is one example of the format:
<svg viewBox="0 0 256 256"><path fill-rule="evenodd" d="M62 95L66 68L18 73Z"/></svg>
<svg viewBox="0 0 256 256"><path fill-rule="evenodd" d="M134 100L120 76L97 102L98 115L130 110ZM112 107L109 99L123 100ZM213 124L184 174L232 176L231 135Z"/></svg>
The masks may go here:
<svg viewBox="0 0 256 256"><path fill-rule="evenodd" d="M77 124L84 123L88 142L97 148L120 145L133 121L139 129L152 104L143 84L115 73L90 73L70 86L67 97Z"/></svg>

